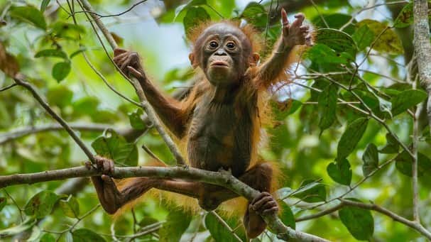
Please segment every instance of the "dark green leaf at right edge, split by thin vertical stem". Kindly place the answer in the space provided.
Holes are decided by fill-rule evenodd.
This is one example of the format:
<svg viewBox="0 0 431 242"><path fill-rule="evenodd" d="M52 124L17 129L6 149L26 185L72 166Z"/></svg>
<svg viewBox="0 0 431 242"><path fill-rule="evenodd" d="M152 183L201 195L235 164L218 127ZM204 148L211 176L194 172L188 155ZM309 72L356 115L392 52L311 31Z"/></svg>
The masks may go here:
<svg viewBox="0 0 431 242"><path fill-rule="evenodd" d="M413 158L405 150L395 158L397 170L408 177L412 176L412 163ZM431 175L431 159L427 155L418 153L418 177L424 174Z"/></svg>

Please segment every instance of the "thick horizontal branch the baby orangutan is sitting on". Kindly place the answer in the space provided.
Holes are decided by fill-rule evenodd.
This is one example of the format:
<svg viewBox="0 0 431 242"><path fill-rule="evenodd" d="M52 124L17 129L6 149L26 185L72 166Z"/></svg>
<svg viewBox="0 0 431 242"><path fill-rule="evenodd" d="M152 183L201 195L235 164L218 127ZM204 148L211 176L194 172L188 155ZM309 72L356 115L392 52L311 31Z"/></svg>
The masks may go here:
<svg viewBox="0 0 431 242"><path fill-rule="evenodd" d="M36 182L48 182L52 180L64 180L72 177L91 177L102 175L102 172L92 167L71 167L61 170L50 170L29 174L14 174L0 176L0 188L10 185L33 184ZM114 178L126 177L170 177L183 180L207 182L213 185L226 187L246 199L252 200L260 194L245 183L233 177L230 172L212 172L193 167L116 167L111 175ZM285 226L278 216L264 216L266 224L274 231L278 238L289 241L327 241L324 238L313 236L309 233L295 231Z"/></svg>

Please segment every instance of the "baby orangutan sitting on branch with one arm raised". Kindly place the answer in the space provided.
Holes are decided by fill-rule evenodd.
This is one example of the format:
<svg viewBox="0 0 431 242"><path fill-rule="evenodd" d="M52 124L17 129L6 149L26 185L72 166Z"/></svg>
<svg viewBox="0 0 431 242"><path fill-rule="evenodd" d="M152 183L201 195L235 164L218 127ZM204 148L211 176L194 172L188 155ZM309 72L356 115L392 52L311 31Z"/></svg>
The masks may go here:
<svg viewBox="0 0 431 242"><path fill-rule="evenodd" d="M232 175L261 194L249 202L244 225L249 238L266 229L261 214L277 213L278 204L271 195L274 178L271 163L258 160L264 109L261 97L268 87L288 79L285 69L295 45L310 45L309 26L302 26L299 13L293 23L282 10L283 31L271 57L258 65L258 48L249 26L222 21L201 26L192 37L189 58L196 70L197 82L183 101L165 97L145 75L137 53L116 49L114 61L122 72L138 79L146 98L170 133L187 145L187 160L192 167L217 171L231 170ZM156 188L198 199L207 211L228 199L238 197L224 187L178 179L135 177L118 189L109 174L111 160L98 158L104 174L92 177L102 207L113 214L124 204Z"/></svg>

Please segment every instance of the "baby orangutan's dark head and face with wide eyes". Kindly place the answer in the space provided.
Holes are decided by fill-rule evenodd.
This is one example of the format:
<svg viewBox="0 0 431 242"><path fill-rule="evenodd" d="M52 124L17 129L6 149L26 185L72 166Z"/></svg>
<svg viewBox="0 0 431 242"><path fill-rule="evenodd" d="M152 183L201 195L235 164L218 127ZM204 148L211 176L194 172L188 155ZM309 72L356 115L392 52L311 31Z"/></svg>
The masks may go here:
<svg viewBox="0 0 431 242"><path fill-rule="evenodd" d="M251 44L239 28L216 23L200 35L195 46L199 65L214 86L236 84L246 72Z"/></svg>

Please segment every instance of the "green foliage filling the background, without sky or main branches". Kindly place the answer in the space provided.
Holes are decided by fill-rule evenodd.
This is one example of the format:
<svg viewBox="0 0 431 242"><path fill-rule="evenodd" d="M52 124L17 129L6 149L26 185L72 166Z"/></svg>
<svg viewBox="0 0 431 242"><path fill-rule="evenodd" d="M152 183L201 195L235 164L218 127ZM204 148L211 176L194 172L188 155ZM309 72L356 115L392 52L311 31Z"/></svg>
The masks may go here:
<svg viewBox="0 0 431 242"><path fill-rule="evenodd" d="M107 9L119 13L135 3L91 2L100 13ZM143 112L112 92L92 68L126 97L137 100L136 94L114 70L84 13L75 14L76 23L70 16L72 11L81 11L78 1L60 4L50 0L0 1L1 87L12 84L10 76L19 70L67 122L111 126L104 132L82 130L80 136L96 153L113 158L117 165L151 161L138 148L142 144L158 158L172 163L173 156L155 131L148 131L137 141L121 136L120 131L146 127L141 121ZM268 50L280 35L280 23L273 21L268 8L273 10L283 1L250 2L241 8L229 0L165 4L166 8L161 2L148 1L137 7L149 9L160 26L180 24L183 37L200 21L246 21L260 31L266 43L263 56L270 53ZM410 219L413 159L405 148L412 147L413 138L418 140L421 221L425 227L431 223L430 132L422 125L420 136L413 137L412 117L427 95L420 87L415 89L415 78L410 76L414 71L403 63L405 50L394 30L409 28L413 23L412 4L405 4L397 18L385 17L383 21L377 16L379 11L390 15L386 6L364 11L366 18L356 14L362 10L354 1L320 1L295 9L305 13L314 26L316 43L304 53L302 64L290 70L294 83L275 92L271 104L275 120L273 126L267 127L268 146L261 155L277 161L283 171L285 179L278 197L283 208L280 218L285 224L331 241L425 241L418 232L388 216L356 207L343 207L338 213L295 223L295 219L334 206L339 196L356 202L371 201ZM126 26L128 21L124 15L110 18L118 21L111 25ZM117 34L115 38L120 45L128 41ZM151 53L151 43L127 44ZM148 58L155 68L150 71L160 72L161 67L151 61L158 60L158 56ZM171 92L171 87L185 85L192 72L190 67L182 66L164 76L159 86ZM21 87L0 92L0 138L8 138L16 128L49 123L53 120ZM31 133L0 143L0 152L1 175L67 168L83 165L85 160L64 131ZM246 239L236 216L203 211L192 214L158 197L147 198L133 211L114 219L99 208L91 186L73 195L53 192L63 183L1 189L0 239L236 241L220 219L234 229L237 237ZM143 233L149 228L151 232ZM271 231L256 239L275 240Z"/></svg>

